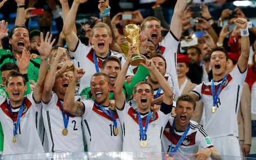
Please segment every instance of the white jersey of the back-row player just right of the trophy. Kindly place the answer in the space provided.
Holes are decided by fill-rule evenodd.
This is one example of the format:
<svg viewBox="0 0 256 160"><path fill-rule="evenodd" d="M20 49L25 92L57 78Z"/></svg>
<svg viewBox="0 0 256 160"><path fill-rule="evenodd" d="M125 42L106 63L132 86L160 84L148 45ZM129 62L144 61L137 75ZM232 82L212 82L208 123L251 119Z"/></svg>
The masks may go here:
<svg viewBox="0 0 256 160"><path fill-rule="evenodd" d="M164 37L163 41L159 43L158 50L163 53L163 57L166 60L166 73L169 73L173 78L173 93L180 95L178 75L177 75L177 50L179 45L179 39L175 38L172 31Z"/></svg>

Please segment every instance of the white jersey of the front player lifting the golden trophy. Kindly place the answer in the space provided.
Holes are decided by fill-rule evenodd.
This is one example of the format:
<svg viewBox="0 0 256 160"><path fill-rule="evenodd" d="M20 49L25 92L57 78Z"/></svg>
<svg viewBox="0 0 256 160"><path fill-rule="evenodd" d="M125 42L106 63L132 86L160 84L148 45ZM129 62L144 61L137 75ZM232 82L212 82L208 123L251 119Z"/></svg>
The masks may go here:
<svg viewBox="0 0 256 160"><path fill-rule="evenodd" d="M163 107L170 106L165 105ZM128 103L125 103L123 110L117 109L117 114L123 127L123 151L161 152L161 137L164 130L164 126L170 119L172 107L170 107L169 109L169 113L164 114L162 111L157 111L155 113L155 119L149 119L148 129L146 132L147 146L145 148L142 148L140 146L141 137L137 112ZM142 119L143 129L145 129L144 127L147 115L140 116Z"/></svg>

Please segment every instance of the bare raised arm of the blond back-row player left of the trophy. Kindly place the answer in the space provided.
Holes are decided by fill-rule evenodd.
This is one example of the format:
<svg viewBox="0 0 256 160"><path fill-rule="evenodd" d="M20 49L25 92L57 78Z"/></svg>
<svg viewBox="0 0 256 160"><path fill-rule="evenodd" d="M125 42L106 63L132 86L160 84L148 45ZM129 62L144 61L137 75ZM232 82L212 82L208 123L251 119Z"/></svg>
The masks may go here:
<svg viewBox="0 0 256 160"><path fill-rule="evenodd" d="M68 43L68 48L70 51L74 51L76 49L78 37L73 31L73 25L75 23L78 7L81 3L84 2L87 2L87 0L75 0L71 6L70 11L68 12L67 18L64 20L62 31L65 35L66 42Z"/></svg>

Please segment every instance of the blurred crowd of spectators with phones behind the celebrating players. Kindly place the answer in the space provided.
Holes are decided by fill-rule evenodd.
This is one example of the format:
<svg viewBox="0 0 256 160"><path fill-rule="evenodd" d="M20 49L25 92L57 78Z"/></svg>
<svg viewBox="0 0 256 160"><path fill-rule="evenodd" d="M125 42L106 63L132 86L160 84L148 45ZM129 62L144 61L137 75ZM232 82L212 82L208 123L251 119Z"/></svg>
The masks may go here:
<svg viewBox="0 0 256 160"><path fill-rule="evenodd" d="M9 31L15 25L17 18L17 1L8 0L0 9L0 20L8 22ZM111 27L114 30L116 42L122 52L127 55L128 45L123 35L123 28L129 23L140 25L143 19L154 16L161 20L162 36L164 37L170 28L173 15L175 0L119 0L109 1L111 7ZM68 1L69 6L73 1ZM40 32L51 34L56 38L55 45L60 45L68 49L65 36L62 33L62 3L57 0L27 0L25 2L25 24L30 29L30 53L38 54L34 42L41 43L39 40ZM229 52L229 61L235 65L240 52L241 44L239 39L240 30L234 24L235 18L246 18L250 32L250 58L249 71L246 78L248 90L244 91L249 95L250 101L241 103L241 110L249 108L247 113L241 113L242 119L250 117L249 128L241 129L251 132L247 141L251 154L256 154L256 1L231 1L231 0L188 0L188 6L182 18L182 37L178 53L188 55L188 60L181 60L185 66L179 65L178 60L178 79L187 76L192 83L199 84L203 81L209 82L212 79L211 68L209 68L209 52L216 46L223 46ZM95 23L101 21L98 10L98 1L89 0L79 5L76 16L77 36L82 43L90 45L91 30ZM1 37L0 47L10 49L9 39ZM152 35L154 39L154 35ZM146 46L147 55L156 53L155 45L148 42ZM157 50L161 53L161 50ZM69 54L70 59L74 55ZM189 69L188 69L189 68ZM202 113L198 113L199 122ZM250 114L248 116L247 114ZM245 120L244 123L247 123ZM241 122L238 120L238 124ZM203 124L203 122L201 122ZM240 137L239 137L240 138ZM251 140L252 138L252 140ZM246 141L245 138L241 140ZM251 146L251 150L250 150ZM246 155L248 156L248 155Z"/></svg>

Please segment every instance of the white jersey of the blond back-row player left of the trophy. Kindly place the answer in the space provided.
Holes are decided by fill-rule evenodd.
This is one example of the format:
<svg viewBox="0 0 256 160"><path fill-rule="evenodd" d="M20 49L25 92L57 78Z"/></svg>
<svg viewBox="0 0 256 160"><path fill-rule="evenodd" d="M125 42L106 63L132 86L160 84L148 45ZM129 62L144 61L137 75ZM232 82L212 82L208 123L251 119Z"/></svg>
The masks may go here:
<svg viewBox="0 0 256 160"><path fill-rule="evenodd" d="M109 51L111 56L115 56L120 59L121 66L124 66L126 58L123 53ZM94 50L91 46L86 46L79 40L76 50L74 51L74 56L79 62L79 67L83 68L86 71L86 74L80 79L79 93L85 89L85 87L90 86L90 79L94 73L97 73L94 60L93 60ZM102 62L105 59L97 57L99 69L102 68ZM128 69L127 76L133 75L132 69Z"/></svg>

